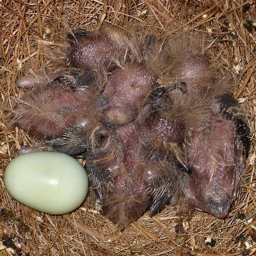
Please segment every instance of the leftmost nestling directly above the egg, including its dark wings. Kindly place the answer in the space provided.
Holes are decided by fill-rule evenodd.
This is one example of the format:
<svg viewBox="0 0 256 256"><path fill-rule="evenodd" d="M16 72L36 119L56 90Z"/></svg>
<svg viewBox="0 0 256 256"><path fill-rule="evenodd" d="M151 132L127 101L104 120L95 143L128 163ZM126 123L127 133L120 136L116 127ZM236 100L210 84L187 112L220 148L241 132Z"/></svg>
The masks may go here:
<svg viewBox="0 0 256 256"><path fill-rule="evenodd" d="M97 125L92 104L99 89L96 73L63 70L51 80L22 77L22 83L36 87L20 100L13 111L13 121L37 140L54 150L75 155L84 152L88 136Z"/></svg>

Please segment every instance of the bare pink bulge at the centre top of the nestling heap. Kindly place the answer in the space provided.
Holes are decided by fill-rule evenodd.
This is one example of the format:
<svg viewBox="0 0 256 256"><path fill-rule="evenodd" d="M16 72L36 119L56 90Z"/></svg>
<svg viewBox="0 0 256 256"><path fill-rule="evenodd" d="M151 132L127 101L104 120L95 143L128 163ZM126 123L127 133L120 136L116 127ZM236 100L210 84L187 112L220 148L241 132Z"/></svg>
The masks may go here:
<svg viewBox="0 0 256 256"><path fill-rule="evenodd" d="M155 84L156 76L141 63L116 68L102 93L102 99L108 99L108 102L98 111L110 123L127 124L138 113Z"/></svg>

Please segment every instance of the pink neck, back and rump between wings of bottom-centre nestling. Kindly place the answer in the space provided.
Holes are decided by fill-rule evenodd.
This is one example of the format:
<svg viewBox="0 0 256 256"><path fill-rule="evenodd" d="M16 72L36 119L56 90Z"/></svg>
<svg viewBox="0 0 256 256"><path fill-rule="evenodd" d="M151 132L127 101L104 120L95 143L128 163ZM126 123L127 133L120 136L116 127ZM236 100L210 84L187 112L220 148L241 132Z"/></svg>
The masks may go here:
<svg viewBox="0 0 256 256"><path fill-rule="evenodd" d="M132 125L116 129L122 147L122 163L111 173L113 186L102 200L102 212L114 223L127 226L138 220L150 205L147 182L143 180L143 163L140 158L138 133Z"/></svg>

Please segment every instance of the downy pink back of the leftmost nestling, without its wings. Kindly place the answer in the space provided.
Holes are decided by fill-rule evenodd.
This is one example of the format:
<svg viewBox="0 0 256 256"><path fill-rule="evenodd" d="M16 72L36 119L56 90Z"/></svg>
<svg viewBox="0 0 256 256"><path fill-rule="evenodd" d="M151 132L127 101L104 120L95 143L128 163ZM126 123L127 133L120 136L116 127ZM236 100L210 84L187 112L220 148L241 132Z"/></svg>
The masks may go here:
<svg viewBox="0 0 256 256"><path fill-rule="evenodd" d="M40 140L61 136L67 124L76 122L74 109L83 105L74 90L56 88L53 84L36 88L23 100L24 104L21 103L19 107L24 107L24 113L16 124L28 131L29 135ZM33 121L28 122L31 119Z"/></svg>

